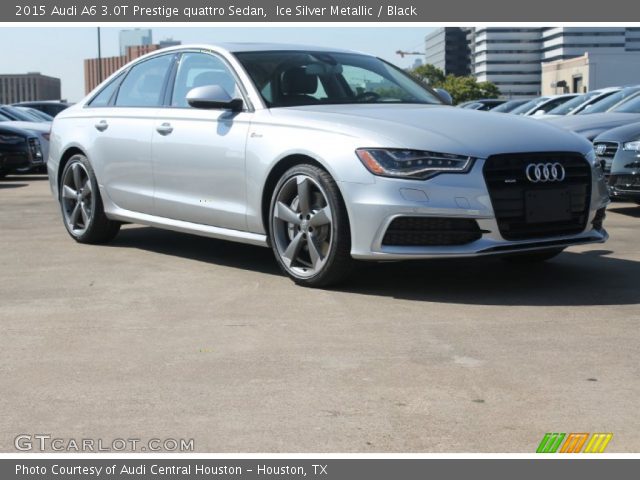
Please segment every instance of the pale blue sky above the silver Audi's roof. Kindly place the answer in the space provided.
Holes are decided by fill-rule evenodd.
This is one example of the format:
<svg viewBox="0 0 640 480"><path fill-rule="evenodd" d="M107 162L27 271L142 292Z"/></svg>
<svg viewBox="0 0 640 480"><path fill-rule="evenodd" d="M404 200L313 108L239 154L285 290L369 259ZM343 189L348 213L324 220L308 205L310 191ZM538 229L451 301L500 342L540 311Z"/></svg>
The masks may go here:
<svg viewBox="0 0 640 480"><path fill-rule="evenodd" d="M119 55L118 32L134 27L101 28L102 56ZM426 27L145 27L153 41L166 38L189 43L275 42L340 47L384 58L400 67L413 65L416 56L396 50L423 51ZM95 27L0 27L0 74L40 72L62 81L62 98L84 97L85 58L98 56ZM8 47L11 46L11 47Z"/></svg>

